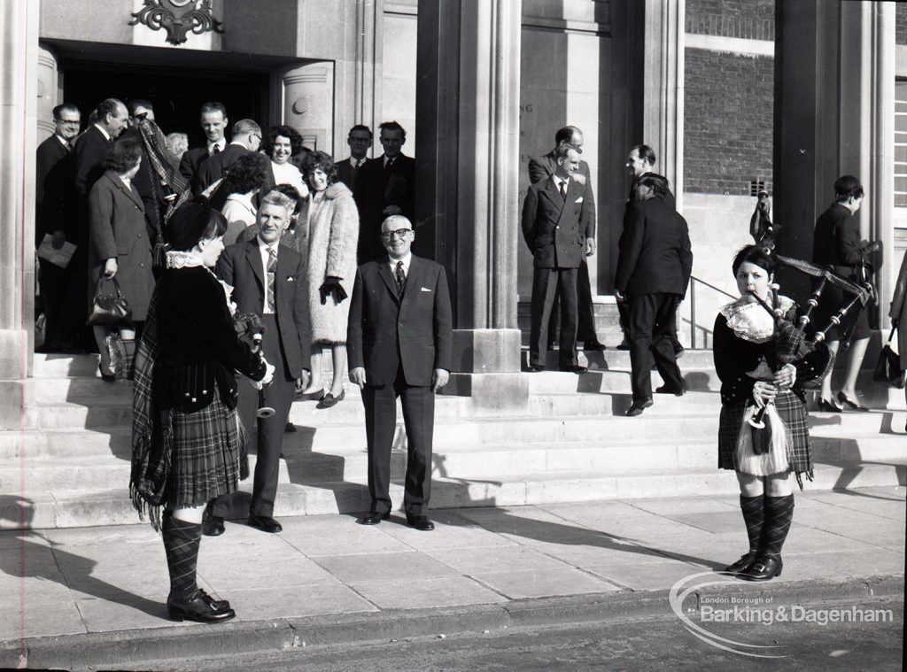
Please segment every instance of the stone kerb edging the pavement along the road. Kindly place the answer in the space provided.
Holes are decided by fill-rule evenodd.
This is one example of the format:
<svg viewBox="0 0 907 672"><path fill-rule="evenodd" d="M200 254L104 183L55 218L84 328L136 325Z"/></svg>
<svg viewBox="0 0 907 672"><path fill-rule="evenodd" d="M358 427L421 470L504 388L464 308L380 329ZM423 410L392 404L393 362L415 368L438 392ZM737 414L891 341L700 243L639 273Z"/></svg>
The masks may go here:
<svg viewBox="0 0 907 672"><path fill-rule="evenodd" d="M902 575L883 574L747 584L746 595L760 599L757 603L783 601L810 606L902 599L903 589ZM739 595L740 590L739 582L694 590L684 602L684 611L696 621L703 597L731 597ZM566 597L514 599L502 604L234 621L218 628L192 624L11 639L0 642L0 667L74 669L127 664L147 669L164 668L166 665L155 663L193 657L226 657L225 637L229 637L228 655L235 657L279 654L303 646L327 648L441 634L451 637L476 632L502 633L514 628L554 627L565 623L676 618L668 597L666 589L623 589Z"/></svg>

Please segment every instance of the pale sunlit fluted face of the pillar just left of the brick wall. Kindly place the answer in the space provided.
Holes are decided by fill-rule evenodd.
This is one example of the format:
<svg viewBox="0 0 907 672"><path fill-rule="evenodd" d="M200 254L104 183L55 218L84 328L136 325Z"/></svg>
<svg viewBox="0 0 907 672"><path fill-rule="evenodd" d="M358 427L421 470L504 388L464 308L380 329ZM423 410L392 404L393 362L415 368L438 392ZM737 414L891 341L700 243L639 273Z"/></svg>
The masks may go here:
<svg viewBox="0 0 907 672"><path fill-rule="evenodd" d="M684 0L646 0L643 142L683 207Z"/></svg>

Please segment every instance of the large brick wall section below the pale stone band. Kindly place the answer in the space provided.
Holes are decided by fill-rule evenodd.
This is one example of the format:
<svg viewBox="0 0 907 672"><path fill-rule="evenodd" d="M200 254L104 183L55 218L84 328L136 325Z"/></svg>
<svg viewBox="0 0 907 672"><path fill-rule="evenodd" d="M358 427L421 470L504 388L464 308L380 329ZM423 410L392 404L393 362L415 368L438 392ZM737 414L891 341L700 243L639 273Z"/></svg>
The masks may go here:
<svg viewBox="0 0 907 672"><path fill-rule="evenodd" d="M684 190L749 195L749 181L761 178L771 192L775 59L685 54Z"/></svg>

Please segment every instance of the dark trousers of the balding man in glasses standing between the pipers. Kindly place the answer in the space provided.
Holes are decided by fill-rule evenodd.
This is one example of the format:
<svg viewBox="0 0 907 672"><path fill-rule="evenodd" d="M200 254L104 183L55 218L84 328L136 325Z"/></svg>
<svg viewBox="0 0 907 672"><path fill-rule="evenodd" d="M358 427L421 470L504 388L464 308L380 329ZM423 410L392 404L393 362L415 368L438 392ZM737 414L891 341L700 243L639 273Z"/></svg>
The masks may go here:
<svg viewBox="0 0 907 672"><path fill-rule="evenodd" d="M403 367L393 385L367 385L362 390L366 408L368 493L372 511L391 511L391 448L396 429L396 398L403 405L406 427L406 480L404 511L424 516L432 490L434 392L430 385L406 385Z"/></svg>

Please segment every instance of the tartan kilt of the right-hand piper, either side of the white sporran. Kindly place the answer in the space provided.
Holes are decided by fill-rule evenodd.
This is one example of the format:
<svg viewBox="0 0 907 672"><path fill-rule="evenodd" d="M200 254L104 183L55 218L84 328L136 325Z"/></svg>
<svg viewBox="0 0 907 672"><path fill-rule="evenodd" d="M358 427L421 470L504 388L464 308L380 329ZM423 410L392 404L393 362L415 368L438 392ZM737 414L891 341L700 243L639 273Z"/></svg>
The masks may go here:
<svg viewBox="0 0 907 672"><path fill-rule="evenodd" d="M736 470L737 468L736 443L747 401L747 399L742 399L721 405L721 415L718 420L719 469ZM787 458L791 471L806 473L812 478L813 455L809 447L806 404L790 390L784 390L775 396L775 409L790 433L791 449Z"/></svg>

